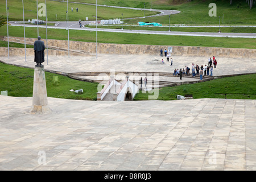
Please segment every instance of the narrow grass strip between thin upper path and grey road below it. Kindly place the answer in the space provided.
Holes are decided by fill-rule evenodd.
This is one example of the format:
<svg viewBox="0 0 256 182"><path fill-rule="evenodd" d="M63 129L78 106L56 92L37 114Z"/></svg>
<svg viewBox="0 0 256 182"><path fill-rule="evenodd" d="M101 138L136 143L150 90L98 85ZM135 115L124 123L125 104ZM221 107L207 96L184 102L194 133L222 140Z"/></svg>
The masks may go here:
<svg viewBox="0 0 256 182"><path fill-rule="evenodd" d="M168 26L168 25L166 25ZM96 26L86 26L88 28L95 28ZM121 29L122 25L115 26L98 26L98 28L110 28ZM155 26L123 26L124 30L152 30L152 31L168 31L169 27ZM181 32L218 32L218 27L170 27L171 31ZM221 27L221 32L233 32L233 33L256 33L256 27Z"/></svg>

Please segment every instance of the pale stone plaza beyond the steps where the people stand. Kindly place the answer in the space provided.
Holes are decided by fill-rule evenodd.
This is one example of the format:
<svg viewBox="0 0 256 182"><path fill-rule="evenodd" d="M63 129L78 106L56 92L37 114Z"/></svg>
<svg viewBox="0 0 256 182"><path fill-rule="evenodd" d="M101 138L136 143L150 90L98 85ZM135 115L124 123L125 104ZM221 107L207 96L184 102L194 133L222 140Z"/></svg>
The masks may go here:
<svg viewBox="0 0 256 182"><path fill-rule="evenodd" d="M209 55L212 57L213 55ZM239 73L255 73L256 59L248 58L229 58L218 57L217 67L213 68L213 76L219 75L234 75ZM174 73L174 69L185 68L187 65L191 68L191 64L208 65L209 57L200 56L172 56L174 60L173 66L170 66L170 61L166 61L166 57L156 55L111 55L98 54L92 56L48 56L48 65L45 57L44 68L51 71L59 71L65 73L75 72L170 72ZM161 60L164 60L164 64ZM1 57L0 60L5 63L23 65L26 67L35 67L34 56L27 56L25 62L24 57ZM159 61L154 61L159 60ZM156 63L157 62L157 63ZM246 64L244 64L246 62ZM192 71L192 69L191 69ZM179 79L175 79L179 81Z"/></svg>

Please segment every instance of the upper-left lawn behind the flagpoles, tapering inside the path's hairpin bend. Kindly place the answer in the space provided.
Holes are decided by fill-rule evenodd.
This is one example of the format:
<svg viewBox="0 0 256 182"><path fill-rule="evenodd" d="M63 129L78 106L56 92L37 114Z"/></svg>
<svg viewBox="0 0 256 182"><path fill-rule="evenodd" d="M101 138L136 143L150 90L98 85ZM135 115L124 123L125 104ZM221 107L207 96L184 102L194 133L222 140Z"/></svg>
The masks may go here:
<svg viewBox="0 0 256 182"><path fill-rule="evenodd" d="M44 0L38 0L38 4L45 3ZM7 1L7 6L9 7L9 20L23 20L23 10L22 1L11 0ZM71 11L73 7L73 12ZM79 11L76 12L76 7L79 7ZM41 16L40 13L42 7L38 8L39 19L46 20L46 16ZM47 19L49 21L65 21L67 11L67 2L55 2L47 1ZM113 19L121 18L123 13L123 18L133 18L143 16L144 12L142 10L129 10L129 9L117 9L111 7L97 7L98 20L100 19ZM57 14L57 19L56 19ZM158 14L153 11L145 11L145 16ZM0 1L0 16L6 17L6 1ZM36 19L36 0L24 0L24 17L25 20ZM69 20L78 21L79 19L85 20L88 17L89 20L96 20L96 6L93 5L82 5L69 3Z"/></svg>

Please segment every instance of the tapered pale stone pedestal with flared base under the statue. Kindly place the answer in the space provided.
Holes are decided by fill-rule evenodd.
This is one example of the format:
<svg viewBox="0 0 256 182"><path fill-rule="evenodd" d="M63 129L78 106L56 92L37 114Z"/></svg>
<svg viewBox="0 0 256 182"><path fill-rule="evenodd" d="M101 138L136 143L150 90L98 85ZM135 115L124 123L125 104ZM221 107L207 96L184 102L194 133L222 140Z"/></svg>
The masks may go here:
<svg viewBox="0 0 256 182"><path fill-rule="evenodd" d="M31 114L48 114L52 110L48 106L46 91L46 75L44 74L44 66L36 65L34 72L33 101Z"/></svg>

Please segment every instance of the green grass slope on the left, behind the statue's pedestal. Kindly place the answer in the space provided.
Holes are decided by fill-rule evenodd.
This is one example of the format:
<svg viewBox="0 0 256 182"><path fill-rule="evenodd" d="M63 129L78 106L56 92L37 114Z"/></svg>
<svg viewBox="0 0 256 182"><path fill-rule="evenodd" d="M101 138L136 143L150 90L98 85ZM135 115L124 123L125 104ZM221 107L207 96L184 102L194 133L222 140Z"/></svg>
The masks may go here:
<svg viewBox="0 0 256 182"><path fill-rule="evenodd" d="M46 73L47 96L77 100L97 100L97 83L73 80L66 76ZM53 76L59 76L58 84L53 83ZM7 90L8 96L32 97L34 69L20 68L0 63L0 90ZM76 94L71 89L83 89Z"/></svg>

